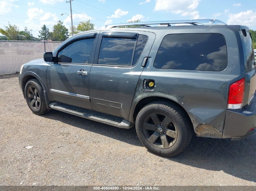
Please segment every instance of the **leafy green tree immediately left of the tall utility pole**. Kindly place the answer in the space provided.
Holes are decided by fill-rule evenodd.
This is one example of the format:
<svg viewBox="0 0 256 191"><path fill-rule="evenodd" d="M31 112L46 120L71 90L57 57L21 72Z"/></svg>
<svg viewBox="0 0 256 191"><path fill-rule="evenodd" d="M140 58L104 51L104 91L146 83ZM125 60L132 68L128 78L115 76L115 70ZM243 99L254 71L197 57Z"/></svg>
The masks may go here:
<svg viewBox="0 0 256 191"><path fill-rule="evenodd" d="M63 25L62 21L58 21L53 25L52 40L64 41L68 38L68 29Z"/></svg>

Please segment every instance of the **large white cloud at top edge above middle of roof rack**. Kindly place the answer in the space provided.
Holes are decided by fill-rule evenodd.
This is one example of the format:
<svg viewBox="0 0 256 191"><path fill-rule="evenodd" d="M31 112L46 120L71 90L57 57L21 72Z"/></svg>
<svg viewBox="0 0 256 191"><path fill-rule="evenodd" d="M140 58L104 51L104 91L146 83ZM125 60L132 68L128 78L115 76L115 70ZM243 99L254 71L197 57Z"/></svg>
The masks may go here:
<svg viewBox="0 0 256 191"><path fill-rule="evenodd" d="M156 0L154 11L168 11L184 17L199 19L199 12L194 11L201 0Z"/></svg>

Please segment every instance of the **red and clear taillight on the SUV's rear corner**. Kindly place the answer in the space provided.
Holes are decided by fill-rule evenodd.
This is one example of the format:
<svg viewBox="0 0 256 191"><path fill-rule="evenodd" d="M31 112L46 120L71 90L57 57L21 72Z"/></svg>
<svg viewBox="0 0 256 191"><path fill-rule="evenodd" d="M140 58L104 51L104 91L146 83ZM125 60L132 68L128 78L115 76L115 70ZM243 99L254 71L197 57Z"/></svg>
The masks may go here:
<svg viewBox="0 0 256 191"><path fill-rule="evenodd" d="M238 80L229 86L228 91L228 109L241 109L244 100L244 78Z"/></svg>

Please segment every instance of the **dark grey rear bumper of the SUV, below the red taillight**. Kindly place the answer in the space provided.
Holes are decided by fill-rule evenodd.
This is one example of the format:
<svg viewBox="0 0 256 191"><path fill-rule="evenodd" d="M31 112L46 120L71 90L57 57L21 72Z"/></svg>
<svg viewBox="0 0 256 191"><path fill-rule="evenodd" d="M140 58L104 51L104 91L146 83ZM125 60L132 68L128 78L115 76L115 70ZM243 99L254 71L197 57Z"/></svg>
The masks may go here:
<svg viewBox="0 0 256 191"><path fill-rule="evenodd" d="M227 110L223 138L242 139L256 132L256 96L247 110ZM252 130L252 128L254 128ZM251 131L250 131L251 130Z"/></svg>

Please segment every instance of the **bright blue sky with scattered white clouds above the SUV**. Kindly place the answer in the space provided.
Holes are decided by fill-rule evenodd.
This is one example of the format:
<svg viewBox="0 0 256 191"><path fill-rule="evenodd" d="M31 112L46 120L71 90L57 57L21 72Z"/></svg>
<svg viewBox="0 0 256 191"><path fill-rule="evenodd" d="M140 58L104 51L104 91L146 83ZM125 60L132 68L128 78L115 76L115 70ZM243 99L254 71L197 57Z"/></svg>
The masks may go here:
<svg viewBox="0 0 256 191"><path fill-rule="evenodd" d="M129 20L167 21L219 19L256 30L255 0L73 0L73 25L90 20L95 29ZM66 13L61 15L62 13ZM50 30L61 20L70 29L70 5L65 0L0 1L0 28L15 24L19 30L38 31L45 24Z"/></svg>

